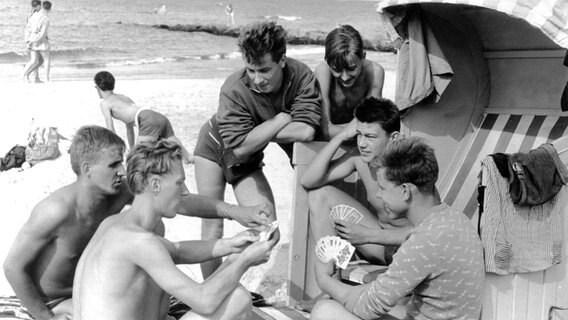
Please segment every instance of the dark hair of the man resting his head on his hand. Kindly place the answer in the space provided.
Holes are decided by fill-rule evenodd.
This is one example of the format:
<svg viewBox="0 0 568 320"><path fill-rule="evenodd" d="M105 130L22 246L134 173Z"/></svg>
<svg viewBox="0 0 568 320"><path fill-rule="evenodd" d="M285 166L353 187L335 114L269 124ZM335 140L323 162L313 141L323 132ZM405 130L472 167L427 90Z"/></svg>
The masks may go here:
<svg viewBox="0 0 568 320"><path fill-rule="evenodd" d="M387 134L400 131L400 112L394 102L385 98L368 97L355 107L360 122L378 122Z"/></svg>

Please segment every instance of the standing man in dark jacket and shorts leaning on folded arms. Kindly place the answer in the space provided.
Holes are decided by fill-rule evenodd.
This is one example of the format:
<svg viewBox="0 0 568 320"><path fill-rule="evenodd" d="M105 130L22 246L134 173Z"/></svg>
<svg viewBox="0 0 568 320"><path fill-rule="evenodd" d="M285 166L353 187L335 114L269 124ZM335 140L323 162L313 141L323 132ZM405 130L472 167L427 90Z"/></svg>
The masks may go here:
<svg viewBox="0 0 568 320"><path fill-rule="evenodd" d="M292 143L313 140L321 117L315 77L307 65L286 57L285 36L274 22L252 23L241 31L244 68L223 84L219 109L201 128L194 152L199 194L222 199L229 183L239 204L266 204L270 221L276 213L262 172L263 151L277 142L291 157ZM222 220L203 220L202 239L222 235ZM204 278L220 263L202 264Z"/></svg>

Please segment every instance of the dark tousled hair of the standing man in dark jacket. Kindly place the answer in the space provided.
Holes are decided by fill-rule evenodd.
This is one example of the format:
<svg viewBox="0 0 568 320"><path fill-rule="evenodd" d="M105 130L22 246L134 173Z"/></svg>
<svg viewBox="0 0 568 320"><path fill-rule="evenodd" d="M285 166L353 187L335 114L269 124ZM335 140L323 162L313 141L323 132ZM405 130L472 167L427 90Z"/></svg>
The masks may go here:
<svg viewBox="0 0 568 320"><path fill-rule="evenodd" d="M273 21L253 22L241 30L238 45L248 63L260 64L267 53L278 62L286 53L286 31Z"/></svg>

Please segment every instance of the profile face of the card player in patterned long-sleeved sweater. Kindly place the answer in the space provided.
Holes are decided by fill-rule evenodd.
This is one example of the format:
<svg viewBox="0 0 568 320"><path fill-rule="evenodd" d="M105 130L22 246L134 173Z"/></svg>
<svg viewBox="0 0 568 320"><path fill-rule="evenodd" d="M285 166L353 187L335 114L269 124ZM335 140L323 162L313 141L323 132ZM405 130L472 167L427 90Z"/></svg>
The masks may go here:
<svg viewBox="0 0 568 320"><path fill-rule="evenodd" d="M385 169L377 171L376 197L383 202L385 211L391 219L406 217L408 206L405 201L405 192L410 192L405 184L396 184L385 177Z"/></svg>

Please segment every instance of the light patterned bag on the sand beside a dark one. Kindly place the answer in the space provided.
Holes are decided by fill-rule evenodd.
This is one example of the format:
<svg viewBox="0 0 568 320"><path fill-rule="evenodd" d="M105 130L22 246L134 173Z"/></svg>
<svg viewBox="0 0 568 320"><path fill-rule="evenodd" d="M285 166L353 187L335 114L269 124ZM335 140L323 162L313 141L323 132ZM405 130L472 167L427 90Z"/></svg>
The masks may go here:
<svg viewBox="0 0 568 320"><path fill-rule="evenodd" d="M55 127L39 127L30 132L26 147L26 161L30 166L43 160L59 157L59 134Z"/></svg>

